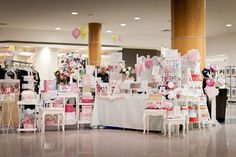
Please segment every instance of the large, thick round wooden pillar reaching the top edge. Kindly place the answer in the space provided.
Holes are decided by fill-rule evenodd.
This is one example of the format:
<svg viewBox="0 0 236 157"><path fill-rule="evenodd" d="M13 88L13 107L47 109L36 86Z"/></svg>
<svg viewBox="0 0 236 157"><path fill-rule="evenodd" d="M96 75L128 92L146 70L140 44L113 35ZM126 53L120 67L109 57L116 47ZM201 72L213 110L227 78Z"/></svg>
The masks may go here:
<svg viewBox="0 0 236 157"><path fill-rule="evenodd" d="M181 55L191 49L198 49L201 68L206 58L206 1L171 0L171 42L172 48Z"/></svg>

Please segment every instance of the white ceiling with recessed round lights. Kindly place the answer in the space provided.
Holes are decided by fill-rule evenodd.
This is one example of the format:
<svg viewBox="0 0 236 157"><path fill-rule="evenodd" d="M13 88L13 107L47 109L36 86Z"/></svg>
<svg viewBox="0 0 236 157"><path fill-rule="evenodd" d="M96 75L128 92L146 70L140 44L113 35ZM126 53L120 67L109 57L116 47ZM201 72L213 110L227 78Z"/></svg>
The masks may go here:
<svg viewBox="0 0 236 157"><path fill-rule="evenodd" d="M236 31L235 6L235 0L207 0L208 37ZM78 15L72 16L72 11L77 11ZM141 20L133 20L135 16ZM122 34L126 37L122 46L137 47L144 42L147 47L159 47L170 42L170 32L162 32L170 28L170 0L0 0L0 23L7 23L0 26L2 30L67 32L70 35L73 28L90 22L103 24L103 36L111 36L107 30ZM121 23L127 26L121 27ZM233 26L226 28L226 23ZM56 31L56 27L62 30Z"/></svg>

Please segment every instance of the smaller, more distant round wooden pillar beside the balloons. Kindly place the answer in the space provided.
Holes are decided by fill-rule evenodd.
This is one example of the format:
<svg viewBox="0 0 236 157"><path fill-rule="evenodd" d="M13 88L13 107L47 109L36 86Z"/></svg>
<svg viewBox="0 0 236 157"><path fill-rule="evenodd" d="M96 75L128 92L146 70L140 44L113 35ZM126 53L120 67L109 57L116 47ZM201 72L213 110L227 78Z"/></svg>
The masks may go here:
<svg viewBox="0 0 236 157"><path fill-rule="evenodd" d="M101 23L89 23L89 65L101 64Z"/></svg>

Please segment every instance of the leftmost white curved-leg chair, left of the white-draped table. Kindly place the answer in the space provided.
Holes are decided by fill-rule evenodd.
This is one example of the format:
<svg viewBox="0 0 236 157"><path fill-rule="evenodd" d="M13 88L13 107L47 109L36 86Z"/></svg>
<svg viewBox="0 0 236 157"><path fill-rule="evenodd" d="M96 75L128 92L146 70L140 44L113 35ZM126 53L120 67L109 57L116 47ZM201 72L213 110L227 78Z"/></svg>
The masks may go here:
<svg viewBox="0 0 236 157"><path fill-rule="evenodd" d="M65 99L63 99L65 101ZM52 101L45 101L45 104L52 104ZM41 107L39 110L39 130L45 132L45 117L46 115L58 115L57 118L57 128L60 130L60 120L62 120L62 131L65 131L65 102L63 102L62 107L53 107L51 105Z"/></svg>

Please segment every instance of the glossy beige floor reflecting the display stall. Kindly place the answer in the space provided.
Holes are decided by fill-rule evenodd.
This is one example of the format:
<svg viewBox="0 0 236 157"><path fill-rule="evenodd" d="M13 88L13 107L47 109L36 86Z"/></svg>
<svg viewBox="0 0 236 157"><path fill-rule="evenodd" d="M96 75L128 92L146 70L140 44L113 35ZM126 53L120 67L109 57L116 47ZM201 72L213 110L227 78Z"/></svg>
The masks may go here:
<svg viewBox="0 0 236 157"><path fill-rule="evenodd" d="M0 157L235 157L236 124L171 139L154 132L67 130L0 134Z"/></svg>

